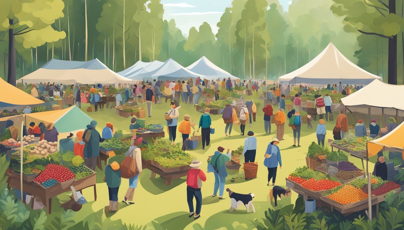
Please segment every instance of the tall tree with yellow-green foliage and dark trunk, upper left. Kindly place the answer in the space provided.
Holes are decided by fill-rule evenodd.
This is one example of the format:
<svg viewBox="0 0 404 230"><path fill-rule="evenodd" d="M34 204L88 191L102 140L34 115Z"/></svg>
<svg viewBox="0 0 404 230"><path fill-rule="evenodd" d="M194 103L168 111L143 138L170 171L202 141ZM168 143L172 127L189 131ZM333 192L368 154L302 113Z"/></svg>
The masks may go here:
<svg viewBox="0 0 404 230"><path fill-rule="evenodd" d="M64 4L62 0L2 0L0 5L0 30L8 30L7 82L16 85L16 39L26 49L63 39L65 32L54 30L51 24L63 17Z"/></svg>

